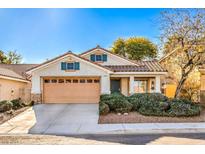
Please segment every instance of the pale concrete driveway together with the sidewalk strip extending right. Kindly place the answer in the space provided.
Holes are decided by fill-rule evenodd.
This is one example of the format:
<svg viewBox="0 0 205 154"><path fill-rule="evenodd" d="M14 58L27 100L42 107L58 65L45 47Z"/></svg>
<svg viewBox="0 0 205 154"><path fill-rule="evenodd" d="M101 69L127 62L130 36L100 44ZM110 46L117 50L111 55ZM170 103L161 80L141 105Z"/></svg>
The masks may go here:
<svg viewBox="0 0 205 154"><path fill-rule="evenodd" d="M98 104L39 104L0 125L0 134L199 133L205 123L98 124Z"/></svg>

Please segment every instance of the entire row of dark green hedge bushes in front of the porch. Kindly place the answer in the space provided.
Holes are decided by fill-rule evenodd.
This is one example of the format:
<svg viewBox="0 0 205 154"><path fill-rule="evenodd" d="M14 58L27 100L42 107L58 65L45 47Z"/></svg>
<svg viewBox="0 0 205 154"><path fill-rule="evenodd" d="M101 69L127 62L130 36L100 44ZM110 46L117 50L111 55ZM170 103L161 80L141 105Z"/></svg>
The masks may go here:
<svg viewBox="0 0 205 154"><path fill-rule="evenodd" d="M196 116L201 107L186 99L168 99L160 93L141 93L125 97L122 94L105 94L100 97L100 113L137 111L146 116ZM106 106L106 105L107 106ZM106 107L105 107L106 106ZM109 108L109 111L108 111Z"/></svg>

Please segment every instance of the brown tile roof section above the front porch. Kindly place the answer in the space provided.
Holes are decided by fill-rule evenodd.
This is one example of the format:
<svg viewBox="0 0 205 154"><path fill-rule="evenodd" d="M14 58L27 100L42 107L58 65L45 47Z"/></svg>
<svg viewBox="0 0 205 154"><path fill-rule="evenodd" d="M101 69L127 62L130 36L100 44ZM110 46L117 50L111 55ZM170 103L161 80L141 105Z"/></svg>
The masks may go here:
<svg viewBox="0 0 205 154"><path fill-rule="evenodd" d="M167 72L160 64L154 61L137 61L139 66L135 65L106 65L104 67L113 72Z"/></svg>

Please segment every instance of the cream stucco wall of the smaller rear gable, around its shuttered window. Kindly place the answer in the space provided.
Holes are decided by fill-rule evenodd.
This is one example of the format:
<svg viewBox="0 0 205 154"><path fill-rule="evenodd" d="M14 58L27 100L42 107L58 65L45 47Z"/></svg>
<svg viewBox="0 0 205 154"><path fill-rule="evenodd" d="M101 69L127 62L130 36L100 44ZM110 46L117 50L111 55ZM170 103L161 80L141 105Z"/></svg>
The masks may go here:
<svg viewBox="0 0 205 154"><path fill-rule="evenodd" d="M107 52L101 49L96 49L93 52L90 52L89 54L84 55L83 57L90 60L91 54L107 54L107 62L100 63L101 65L133 65L133 63L131 62L124 60L118 56L108 54Z"/></svg>

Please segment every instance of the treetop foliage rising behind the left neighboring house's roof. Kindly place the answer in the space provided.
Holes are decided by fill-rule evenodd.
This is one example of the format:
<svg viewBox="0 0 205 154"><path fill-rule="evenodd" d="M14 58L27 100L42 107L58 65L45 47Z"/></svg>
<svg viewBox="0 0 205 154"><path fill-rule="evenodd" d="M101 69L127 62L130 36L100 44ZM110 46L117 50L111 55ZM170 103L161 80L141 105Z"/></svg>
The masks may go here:
<svg viewBox="0 0 205 154"><path fill-rule="evenodd" d="M9 51L4 53L0 50L0 63L2 64L19 64L22 61L22 57L16 51Z"/></svg>

